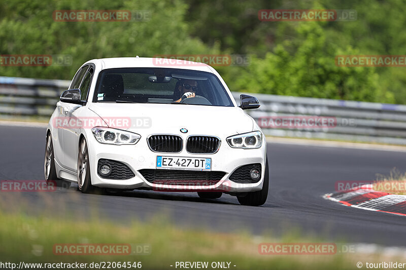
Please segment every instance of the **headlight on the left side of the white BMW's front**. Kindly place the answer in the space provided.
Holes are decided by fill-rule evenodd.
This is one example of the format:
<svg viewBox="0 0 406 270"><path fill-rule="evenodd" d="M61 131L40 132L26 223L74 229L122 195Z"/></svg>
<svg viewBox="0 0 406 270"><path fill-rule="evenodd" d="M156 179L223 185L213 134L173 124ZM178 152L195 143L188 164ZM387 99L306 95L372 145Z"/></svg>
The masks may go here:
<svg viewBox="0 0 406 270"><path fill-rule="evenodd" d="M92 128L92 132L98 142L107 144L136 144L141 138L137 133L103 127Z"/></svg>

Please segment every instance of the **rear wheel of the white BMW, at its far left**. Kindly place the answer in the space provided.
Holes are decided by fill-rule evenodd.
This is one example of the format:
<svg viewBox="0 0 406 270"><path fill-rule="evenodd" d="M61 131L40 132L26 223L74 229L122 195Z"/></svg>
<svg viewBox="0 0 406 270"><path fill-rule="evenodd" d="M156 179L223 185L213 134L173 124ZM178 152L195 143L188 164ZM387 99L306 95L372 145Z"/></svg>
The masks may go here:
<svg viewBox="0 0 406 270"><path fill-rule="evenodd" d="M44 177L45 181L50 184L51 181L56 182L56 186L63 188L69 188L71 182L58 179L55 169L55 160L54 160L54 146L52 142L51 132L47 134L47 142L45 144L45 159L44 159Z"/></svg>

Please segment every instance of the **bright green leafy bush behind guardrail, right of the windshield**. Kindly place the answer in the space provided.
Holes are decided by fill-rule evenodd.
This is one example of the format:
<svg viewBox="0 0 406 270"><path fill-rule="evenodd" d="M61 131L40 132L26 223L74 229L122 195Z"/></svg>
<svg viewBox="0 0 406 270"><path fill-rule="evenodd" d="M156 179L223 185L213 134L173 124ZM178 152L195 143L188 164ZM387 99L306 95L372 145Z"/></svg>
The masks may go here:
<svg viewBox="0 0 406 270"><path fill-rule="evenodd" d="M296 27L296 38L276 46L265 58L254 57L231 83L233 89L277 95L378 101L373 67L339 67L335 55L357 54L326 40L320 23Z"/></svg>

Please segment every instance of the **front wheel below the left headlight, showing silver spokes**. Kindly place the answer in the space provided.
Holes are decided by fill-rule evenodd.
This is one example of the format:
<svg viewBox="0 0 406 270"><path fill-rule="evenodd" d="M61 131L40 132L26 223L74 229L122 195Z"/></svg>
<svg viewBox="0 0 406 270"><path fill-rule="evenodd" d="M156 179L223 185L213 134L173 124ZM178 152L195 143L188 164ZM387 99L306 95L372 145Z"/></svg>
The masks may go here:
<svg viewBox="0 0 406 270"><path fill-rule="evenodd" d="M78 152L78 188L83 193L90 193L94 187L90 179L89 151L85 138L81 139Z"/></svg>

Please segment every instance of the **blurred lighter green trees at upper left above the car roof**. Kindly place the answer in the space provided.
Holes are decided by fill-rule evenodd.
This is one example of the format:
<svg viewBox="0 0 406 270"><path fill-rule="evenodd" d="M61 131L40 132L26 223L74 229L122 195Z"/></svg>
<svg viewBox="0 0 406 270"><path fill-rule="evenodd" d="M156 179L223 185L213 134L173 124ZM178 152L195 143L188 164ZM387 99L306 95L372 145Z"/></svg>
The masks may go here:
<svg viewBox="0 0 406 270"><path fill-rule="evenodd" d="M207 53L198 38L189 35L184 21L188 6L173 1L5 0L0 4L0 55L46 54L72 56L71 66L7 67L3 76L72 79L93 58L152 57L156 54ZM57 22L55 10L149 11L149 21Z"/></svg>

